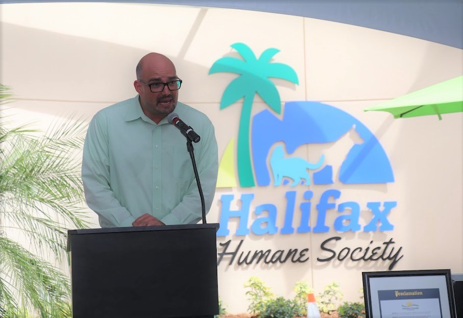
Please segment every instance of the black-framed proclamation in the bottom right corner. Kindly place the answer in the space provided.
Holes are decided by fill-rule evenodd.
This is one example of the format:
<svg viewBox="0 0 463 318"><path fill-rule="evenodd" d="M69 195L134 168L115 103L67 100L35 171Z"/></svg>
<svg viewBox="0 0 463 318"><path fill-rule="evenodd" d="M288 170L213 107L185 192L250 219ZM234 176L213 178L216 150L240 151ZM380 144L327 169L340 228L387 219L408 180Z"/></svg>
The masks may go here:
<svg viewBox="0 0 463 318"><path fill-rule="evenodd" d="M450 270L362 273L367 318L456 318Z"/></svg>

